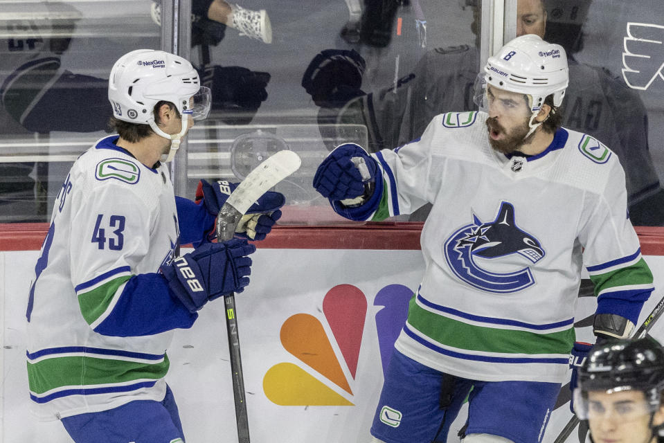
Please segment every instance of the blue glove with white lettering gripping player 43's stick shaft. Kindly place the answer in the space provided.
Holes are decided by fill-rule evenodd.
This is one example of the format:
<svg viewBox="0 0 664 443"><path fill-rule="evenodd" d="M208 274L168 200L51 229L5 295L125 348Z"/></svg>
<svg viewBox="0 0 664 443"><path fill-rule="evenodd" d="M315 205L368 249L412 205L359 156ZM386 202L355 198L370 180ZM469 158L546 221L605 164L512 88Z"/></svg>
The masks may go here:
<svg viewBox="0 0 664 443"><path fill-rule="evenodd" d="M242 292L249 284L251 258L256 247L244 239L208 243L161 266L172 295L192 313L208 300Z"/></svg>

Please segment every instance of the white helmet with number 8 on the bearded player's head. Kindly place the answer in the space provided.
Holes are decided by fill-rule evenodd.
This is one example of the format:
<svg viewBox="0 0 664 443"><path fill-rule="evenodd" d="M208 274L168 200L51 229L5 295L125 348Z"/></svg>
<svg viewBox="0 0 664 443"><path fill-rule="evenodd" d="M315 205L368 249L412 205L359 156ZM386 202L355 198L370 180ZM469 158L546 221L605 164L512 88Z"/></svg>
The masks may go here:
<svg viewBox="0 0 664 443"><path fill-rule="evenodd" d="M559 107L569 84L567 55L558 44L534 34L521 35L489 57L484 80L496 88L530 96L533 113L539 112L551 94L553 105Z"/></svg>

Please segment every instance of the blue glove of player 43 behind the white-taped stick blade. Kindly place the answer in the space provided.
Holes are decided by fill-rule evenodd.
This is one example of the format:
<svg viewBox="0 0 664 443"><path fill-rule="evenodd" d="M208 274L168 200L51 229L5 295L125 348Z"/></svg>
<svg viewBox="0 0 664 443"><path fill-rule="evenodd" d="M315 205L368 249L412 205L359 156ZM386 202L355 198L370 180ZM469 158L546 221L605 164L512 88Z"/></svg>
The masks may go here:
<svg viewBox="0 0 664 443"><path fill-rule="evenodd" d="M217 180L213 183L201 180L196 190L196 203L204 204L208 214L217 217L219 209L224 206L231 192L237 188L238 183L229 183L225 180ZM235 227L235 236L251 240L265 239L281 217L279 208L284 206L286 198L280 192L265 192L255 204L246 212ZM214 235L215 226L206 231L206 239L211 240Z"/></svg>

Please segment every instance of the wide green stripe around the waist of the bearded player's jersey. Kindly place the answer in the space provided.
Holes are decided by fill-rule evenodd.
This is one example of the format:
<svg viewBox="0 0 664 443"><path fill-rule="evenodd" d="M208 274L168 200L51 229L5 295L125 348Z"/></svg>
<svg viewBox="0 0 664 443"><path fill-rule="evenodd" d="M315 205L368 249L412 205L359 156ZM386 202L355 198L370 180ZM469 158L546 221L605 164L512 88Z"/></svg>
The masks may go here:
<svg viewBox="0 0 664 443"><path fill-rule="evenodd" d="M464 323L420 307L412 298L408 322L433 341L458 349L499 354L569 354L574 328L537 334Z"/></svg>

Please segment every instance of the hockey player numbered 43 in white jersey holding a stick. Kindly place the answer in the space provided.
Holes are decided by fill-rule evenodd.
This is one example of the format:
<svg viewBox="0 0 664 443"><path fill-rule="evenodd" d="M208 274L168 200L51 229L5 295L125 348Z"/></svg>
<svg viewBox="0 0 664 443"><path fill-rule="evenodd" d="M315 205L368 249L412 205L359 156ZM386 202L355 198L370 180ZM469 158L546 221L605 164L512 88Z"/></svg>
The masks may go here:
<svg viewBox="0 0 664 443"><path fill-rule="evenodd" d="M249 284L255 246L207 241L231 184L202 181L196 204L174 196L162 163L209 111L192 65L132 51L114 64L108 96L118 135L73 164L35 266L30 399L77 443L183 442L165 350L173 329L191 327L208 300ZM276 192L261 197L243 234L264 237L282 204ZM180 242L194 251L177 257Z"/></svg>

